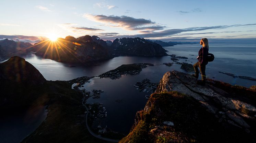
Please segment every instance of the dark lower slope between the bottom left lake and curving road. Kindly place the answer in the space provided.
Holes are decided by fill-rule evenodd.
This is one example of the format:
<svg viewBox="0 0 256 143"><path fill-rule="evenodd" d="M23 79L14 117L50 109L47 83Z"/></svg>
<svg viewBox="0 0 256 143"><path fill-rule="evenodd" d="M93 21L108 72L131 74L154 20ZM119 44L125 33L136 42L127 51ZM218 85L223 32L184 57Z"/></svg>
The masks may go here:
<svg viewBox="0 0 256 143"><path fill-rule="evenodd" d="M65 81L47 81L41 88L48 105L45 121L22 142L103 142L85 126L82 96Z"/></svg>

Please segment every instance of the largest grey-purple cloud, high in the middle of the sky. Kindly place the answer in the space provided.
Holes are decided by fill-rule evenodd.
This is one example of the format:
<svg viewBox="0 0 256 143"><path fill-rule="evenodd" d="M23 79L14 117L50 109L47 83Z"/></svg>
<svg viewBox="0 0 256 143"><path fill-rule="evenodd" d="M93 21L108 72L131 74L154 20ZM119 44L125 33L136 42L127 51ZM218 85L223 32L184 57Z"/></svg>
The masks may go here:
<svg viewBox="0 0 256 143"><path fill-rule="evenodd" d="M155 25L150 19L133 18L129 16L115 16L115 15L92 15L84 14L83 17L88 18L95 22L104 24L112 24L112 27L121 27L127 30L163 30L165 26Z"/></svg>

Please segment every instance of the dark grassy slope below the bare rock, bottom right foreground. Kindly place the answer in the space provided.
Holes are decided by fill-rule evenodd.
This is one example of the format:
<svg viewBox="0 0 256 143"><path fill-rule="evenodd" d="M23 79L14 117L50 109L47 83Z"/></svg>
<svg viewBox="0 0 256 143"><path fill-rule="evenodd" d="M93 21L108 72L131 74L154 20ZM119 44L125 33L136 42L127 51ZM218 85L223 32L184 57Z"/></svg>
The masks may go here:
<svg viewBox="0 0 256 143"><path fill-rule="evenodd" d="M255 138L236 126L218 123L197 101L175 91L152 94L147 107L137 113L138 124L120 143L253 142ZM174 126L164 126L163 121L172 121ZM155 126L162 129L150 132Z"/></svg>

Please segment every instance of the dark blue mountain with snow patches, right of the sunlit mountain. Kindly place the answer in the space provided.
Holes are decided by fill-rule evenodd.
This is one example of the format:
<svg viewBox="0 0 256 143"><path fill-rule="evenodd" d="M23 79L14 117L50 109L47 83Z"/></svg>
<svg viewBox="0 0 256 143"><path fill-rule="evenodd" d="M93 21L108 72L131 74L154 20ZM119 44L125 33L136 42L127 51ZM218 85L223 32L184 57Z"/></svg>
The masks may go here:
<svg viewBox="0 0 256 143"><path fill-rule="evenodd" d="M143 38L115 39L111 45L116 55L136 56L165 56L165 49L161 45Z"/></svg>

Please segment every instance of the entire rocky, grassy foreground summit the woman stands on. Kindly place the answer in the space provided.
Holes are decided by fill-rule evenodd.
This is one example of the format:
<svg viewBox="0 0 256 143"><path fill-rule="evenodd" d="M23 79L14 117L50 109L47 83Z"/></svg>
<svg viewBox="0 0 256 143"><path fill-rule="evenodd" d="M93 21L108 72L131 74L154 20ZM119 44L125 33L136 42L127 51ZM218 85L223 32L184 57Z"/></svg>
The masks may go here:
<svg viewBox="0 0 256 143"><path fill-rule="evenodd" d="M170 71L120 142L255 142L256 90Z"/></svg>

